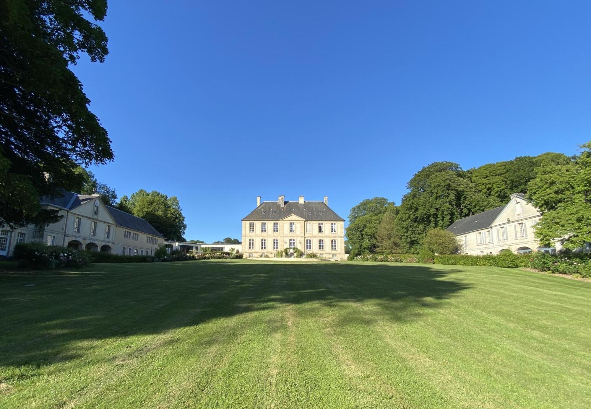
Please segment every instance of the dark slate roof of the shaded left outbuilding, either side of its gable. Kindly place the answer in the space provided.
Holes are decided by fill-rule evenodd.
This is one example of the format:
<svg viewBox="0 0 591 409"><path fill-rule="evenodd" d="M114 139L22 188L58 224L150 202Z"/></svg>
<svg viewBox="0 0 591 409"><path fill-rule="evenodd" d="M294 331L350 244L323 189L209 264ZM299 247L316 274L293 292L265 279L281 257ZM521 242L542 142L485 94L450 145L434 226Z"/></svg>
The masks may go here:
<svg viewBox="0 0 591 409"><path fill-rule="evenodd" d="M96 200L98 196L87 196L84 194L73 193L72 191L64 191L62 196L58 197L43 197L41 199L42 205L50 205L61 207L62 209L72 210L78 206L84 205L89 200ZM109 211L109 214L115 220L118 226L126 227L131 230L135 230L148 235L164 237L156 229L152 227L150 223L137 216L130 215L129 213L122 212L115 207L105 206Z"/></svg>

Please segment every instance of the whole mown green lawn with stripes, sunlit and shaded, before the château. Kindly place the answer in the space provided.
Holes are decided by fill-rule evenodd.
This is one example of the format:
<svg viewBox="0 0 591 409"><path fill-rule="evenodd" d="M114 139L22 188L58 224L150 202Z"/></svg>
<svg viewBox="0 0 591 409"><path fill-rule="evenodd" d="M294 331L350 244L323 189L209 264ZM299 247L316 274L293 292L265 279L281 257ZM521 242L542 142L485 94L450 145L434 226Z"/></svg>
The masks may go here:
<svg viewBox="0 0 591 409"><path fill-rule="evenodd" d="M0 273L0 407L589 408L591 284L189 261Z"/></svg>

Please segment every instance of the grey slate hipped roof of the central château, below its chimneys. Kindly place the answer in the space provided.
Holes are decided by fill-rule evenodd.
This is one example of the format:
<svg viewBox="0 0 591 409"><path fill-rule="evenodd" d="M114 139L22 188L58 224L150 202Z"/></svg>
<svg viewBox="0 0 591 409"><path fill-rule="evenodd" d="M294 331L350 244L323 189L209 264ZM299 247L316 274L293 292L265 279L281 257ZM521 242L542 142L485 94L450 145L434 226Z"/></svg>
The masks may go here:
<svg viewBox="0 0 591 409"><path fill-rule="evenodd" d="M291 214L306 220L345 221L324 202L300 203L288 200L285 201L284 206L280 206L278 202L262 202L242 220L281 220Z"/></svg>

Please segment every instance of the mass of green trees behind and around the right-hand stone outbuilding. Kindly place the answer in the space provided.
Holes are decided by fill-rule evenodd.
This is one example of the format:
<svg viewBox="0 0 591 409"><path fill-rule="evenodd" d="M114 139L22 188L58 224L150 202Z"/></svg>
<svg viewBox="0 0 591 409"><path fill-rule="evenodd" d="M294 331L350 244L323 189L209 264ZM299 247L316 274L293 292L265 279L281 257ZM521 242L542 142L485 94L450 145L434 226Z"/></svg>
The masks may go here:
<svg viewBox="0 0 591 409"><path fill-rule="evenodd" d="M544 245L561 238L566 248L591 242L591 142L580 155L547 152L462 170L434 162L414 174L399 206L385 197L362 200L349 214L347 245L355 256L414 253L428 247L456 252L453 222L504 206L512 193L525 193L546 216L536 228ZM437 252L437 251L435 251Z"/></svg>

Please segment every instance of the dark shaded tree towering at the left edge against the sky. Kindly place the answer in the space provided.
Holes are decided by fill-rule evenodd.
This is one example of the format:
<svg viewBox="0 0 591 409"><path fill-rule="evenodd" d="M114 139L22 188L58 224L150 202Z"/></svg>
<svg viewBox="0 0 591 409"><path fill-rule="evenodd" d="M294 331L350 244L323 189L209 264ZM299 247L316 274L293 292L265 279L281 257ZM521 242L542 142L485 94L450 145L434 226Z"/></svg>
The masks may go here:
<svg viewBox="0 0 591 409"><path fill-rule="evenodd" d="M82 53L105 60L107 38L93 21L106 9L105 0L0 1L0 224L55 221L40 198L79 185L76 165L113 158L70 70Z"/></svg>

